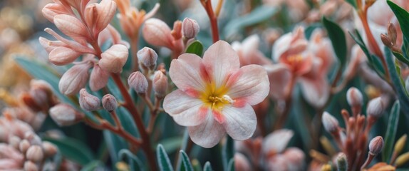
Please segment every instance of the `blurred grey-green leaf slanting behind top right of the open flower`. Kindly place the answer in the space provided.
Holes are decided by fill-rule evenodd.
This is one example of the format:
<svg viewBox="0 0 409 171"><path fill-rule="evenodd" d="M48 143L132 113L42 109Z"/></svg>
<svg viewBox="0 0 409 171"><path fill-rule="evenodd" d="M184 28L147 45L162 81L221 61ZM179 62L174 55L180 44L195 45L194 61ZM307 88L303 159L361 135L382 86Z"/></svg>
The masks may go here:
<svg viewBox="0 0 409 171"><path fill-rule="evenodd" d="M259 6L254 9L250 14L239 16L229 21L223 29L223 33L226 37L233 36L243 28L252 26L254 24L261 23L274 16L279 10L271 6Z"/></svg>

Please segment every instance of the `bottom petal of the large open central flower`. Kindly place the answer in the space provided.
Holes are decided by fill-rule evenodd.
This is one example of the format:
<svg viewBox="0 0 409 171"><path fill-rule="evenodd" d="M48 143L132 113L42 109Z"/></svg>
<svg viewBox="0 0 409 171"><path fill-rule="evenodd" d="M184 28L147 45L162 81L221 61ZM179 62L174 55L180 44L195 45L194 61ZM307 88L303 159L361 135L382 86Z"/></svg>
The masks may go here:
<svg viewBox="0 0 409 171"><path fill-rule="evenodd" d="M188 127L190 139L202 147L214 147L226 133L223 126L214 120L213 115L207 115L206 120L197 126Z"/></svg>

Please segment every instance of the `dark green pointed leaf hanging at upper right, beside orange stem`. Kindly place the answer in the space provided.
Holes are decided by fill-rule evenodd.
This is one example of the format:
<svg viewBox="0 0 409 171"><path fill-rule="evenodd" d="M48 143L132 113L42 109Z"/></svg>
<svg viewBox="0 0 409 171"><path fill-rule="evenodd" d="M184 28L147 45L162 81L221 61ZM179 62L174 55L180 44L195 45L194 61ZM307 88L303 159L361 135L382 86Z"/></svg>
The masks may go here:
<svg viewBox="0 0 409 171"><path fill-rule="evenodd" d="M338 61L341 63L341 68L343 68L346 65L347 53L345 33L338 24L329 21L325 16L322 18L322 22L331 39L333 51L335 51Z"/></svg>

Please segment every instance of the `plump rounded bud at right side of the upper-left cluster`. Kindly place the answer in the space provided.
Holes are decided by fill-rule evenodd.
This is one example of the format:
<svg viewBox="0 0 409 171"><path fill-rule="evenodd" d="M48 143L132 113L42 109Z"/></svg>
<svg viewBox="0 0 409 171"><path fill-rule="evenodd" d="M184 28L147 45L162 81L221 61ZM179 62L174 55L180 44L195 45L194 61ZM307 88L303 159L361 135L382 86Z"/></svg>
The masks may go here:
<svg viewBox="0 0 409 171"><path fill-rule="evenodd" d="M128 59L128 48L122 44L115 44L101 54L99 66L110 73L120 73Z"/></svg>

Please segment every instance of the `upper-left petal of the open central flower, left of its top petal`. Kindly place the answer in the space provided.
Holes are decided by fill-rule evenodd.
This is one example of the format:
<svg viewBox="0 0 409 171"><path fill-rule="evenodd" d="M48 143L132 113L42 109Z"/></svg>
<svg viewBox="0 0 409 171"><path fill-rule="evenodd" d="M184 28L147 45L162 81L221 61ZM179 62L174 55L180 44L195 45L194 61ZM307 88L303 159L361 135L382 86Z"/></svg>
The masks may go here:
<svg viewBox="0 0 409 171"><path fill-rule="evenodd" d="M169 75L173 83L182 91L205 90L202 72L205 70L202 58L192 53L184 53L170 63ZM203 69L201 69L203 68Z"/></svg>

